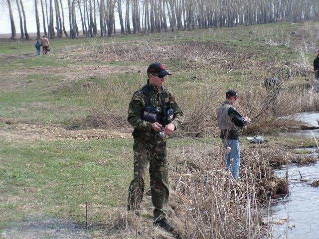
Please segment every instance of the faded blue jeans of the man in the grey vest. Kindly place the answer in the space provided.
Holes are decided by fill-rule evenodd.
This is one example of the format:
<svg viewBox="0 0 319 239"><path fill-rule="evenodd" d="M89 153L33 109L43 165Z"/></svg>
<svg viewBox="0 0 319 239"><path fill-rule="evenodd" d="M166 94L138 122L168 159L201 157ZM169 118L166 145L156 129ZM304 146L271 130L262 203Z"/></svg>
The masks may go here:
<svg viewBox="0 0 319 239"><path fill-rule="evenodd" d="M239 151L239 143L237 139L222 139L225 147L230 147L229 153L225 152L225 163L226 163L226 171L230 170L231 175L235 181L238 178L238 171L240 165L240 151ZM230 159L233 158L233 163L230 162Z"/></svg>

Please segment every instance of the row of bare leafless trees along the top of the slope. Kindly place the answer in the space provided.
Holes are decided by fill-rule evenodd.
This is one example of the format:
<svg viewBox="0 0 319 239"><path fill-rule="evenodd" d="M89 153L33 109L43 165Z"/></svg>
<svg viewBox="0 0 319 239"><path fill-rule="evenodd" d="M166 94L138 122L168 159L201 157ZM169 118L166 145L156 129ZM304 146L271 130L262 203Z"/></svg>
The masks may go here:
<svg viewBox="0 0 319 239"><path fill-rule="evenodd" d="M77 19L89 37L319 19L319 0L33 0L35 19L26 17L23 0L6 1L11 38L16 38L12 9L17 9L26 39L27 20L35 20L37 38L41 32L49 38L78 38Z"/></svg>

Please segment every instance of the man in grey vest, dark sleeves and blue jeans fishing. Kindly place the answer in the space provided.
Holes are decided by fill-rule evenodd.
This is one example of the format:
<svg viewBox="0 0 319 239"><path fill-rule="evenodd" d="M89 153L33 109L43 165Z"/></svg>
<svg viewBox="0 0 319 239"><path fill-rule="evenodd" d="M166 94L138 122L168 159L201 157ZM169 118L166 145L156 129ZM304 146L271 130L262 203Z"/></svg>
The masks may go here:
<svg viewBox="0 0 319 239"><path fill-rule="evenodd" d="M250 122L248 117L243 117L233 107L237 99L240 98L235 91L227 91L226 101L216 111L220 138L225 148L230 147L230 150L225 152L226 171L230 170L235 181L238 178L240 165L239 130Z"/></svg>

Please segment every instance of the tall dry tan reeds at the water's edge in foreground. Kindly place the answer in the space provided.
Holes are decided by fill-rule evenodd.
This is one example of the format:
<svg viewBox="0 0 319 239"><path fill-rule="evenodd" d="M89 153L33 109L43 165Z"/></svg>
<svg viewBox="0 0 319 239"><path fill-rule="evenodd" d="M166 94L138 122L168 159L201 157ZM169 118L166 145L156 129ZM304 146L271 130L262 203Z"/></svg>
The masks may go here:
<svg viewBox="0 0 319 239"><path fill-rule="evenodd" d="M244 150L237 183L225 172L221 144L194 144L175 157L184 167L174 171L172 205L186 239L267 238L261 205L287 193L288 184L273 175L260 149Z"/></svg>

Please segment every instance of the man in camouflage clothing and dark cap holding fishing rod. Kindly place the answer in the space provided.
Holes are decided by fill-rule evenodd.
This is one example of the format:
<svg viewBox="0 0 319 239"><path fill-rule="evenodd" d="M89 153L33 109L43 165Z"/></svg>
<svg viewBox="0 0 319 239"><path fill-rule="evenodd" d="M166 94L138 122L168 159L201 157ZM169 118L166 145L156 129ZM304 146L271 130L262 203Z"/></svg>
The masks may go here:
<svg viewBox="0 0 319 239"><path fill-rule="evenodd" d="M173 94L162 87L165 76L171 73L160 63L151 64L148 69L147 95L141 88L134 93L129 104L128 121L134 127L134 178L129 187L128 210L140 213L140 204L145 189L145 176L150 165L150 185L154 205L153 225L172 231L174 226L167 222L168 207L168 160L166 139L184 120L183 112ZM165 121L164 106L173 110L172 121ZM147 107L156 109L154 120L145 119ZM149 121L147 121L149 120ZM154 121L154 122L152 122ZM164 134L163 134L164 132Z"/></svg>

